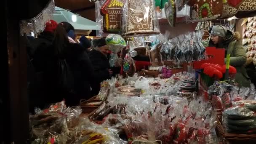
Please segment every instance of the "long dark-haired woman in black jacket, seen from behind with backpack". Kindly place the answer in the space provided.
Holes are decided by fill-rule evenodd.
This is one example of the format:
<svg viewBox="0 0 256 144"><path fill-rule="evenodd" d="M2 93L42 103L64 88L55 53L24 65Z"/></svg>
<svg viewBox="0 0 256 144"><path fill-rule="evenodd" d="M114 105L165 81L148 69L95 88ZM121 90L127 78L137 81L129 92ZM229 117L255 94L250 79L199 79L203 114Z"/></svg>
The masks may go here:
<svg viewBox="0 0 256 144"><path fill-rule="evenodd" d="M74 34L72 31L74 31L74 27L71 24L59 23L52 45L46 51L38 53L37 58L43 61L44 93L45 96L48 96L45 97L46 103L65 99L68 106L74 106L79 104L80 99L89 99L91 96L89 83L93 77L93 67L86 49L80 44L73 43L68 37L68 33L72 37L70 35ZM72 79L61 77L60 62L64 63L66 66L64 70L70 76L72 75ZM68 85L72 84L72 91L61 87L60 81Z"/></svg>

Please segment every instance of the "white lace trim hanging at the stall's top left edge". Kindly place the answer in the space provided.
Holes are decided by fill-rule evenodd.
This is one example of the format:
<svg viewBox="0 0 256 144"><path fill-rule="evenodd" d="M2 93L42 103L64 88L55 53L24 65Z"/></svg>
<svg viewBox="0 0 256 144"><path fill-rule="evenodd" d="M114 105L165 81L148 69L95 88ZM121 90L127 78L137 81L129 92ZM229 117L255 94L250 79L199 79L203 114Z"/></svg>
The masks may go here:
<svg viewBox="0 0 256 144"><path fill-rule="evenodd" d="M19 23L21 35L31 35L31 32L38 34L45 29L45 24L50 21L54 13L54 0L51 0L41 13L32 19L21 20Z"/></svg>

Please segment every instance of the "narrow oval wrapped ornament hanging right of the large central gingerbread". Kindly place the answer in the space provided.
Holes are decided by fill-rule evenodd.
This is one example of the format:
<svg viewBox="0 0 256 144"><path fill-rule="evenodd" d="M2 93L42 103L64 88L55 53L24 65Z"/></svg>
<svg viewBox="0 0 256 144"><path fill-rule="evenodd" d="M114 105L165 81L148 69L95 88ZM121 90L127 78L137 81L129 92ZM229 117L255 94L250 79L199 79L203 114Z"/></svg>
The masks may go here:
<svg viewBox="0 0 256 144"><path fill-rule="evenodd" d="M165 3L165 16L171 27L176 26L176 3L175 0L168 0Z"/></svg>

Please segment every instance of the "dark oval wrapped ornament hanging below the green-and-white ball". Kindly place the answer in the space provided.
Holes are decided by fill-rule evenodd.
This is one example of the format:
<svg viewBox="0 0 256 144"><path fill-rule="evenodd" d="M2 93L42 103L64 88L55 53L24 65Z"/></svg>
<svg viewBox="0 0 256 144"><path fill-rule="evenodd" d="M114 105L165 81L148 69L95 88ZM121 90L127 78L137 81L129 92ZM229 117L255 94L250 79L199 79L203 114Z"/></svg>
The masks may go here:
<svg viewBox="0 0 256 144"><path fill-rule="evenodd" d="M123 71L129 77L132 77L136 72L136 67L133 58L131 57L130 53L127 53L123 62Z"/></svg>

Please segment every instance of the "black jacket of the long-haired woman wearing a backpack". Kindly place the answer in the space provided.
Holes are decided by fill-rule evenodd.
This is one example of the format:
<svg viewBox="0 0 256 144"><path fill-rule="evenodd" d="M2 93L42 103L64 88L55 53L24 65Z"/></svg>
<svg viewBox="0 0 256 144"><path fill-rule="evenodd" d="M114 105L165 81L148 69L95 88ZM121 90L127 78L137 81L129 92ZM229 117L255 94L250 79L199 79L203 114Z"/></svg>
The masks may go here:
<svg viewBox="0 0 256 144"><path fill-rule="evenodd" d="M78 105L80 99L91 98L90 81L93 80L93 67L86 53L86 49L79 44L69 43L67 51L61 58L66 59L71 72L74 75L74 93L61 91L56 85L57 61L59 56L54 54L54 48L51 45L48 48L35 51L32 63L36 72L42 72L43 91L46 103L53 103L66 100L69 106Z"/></svg>

